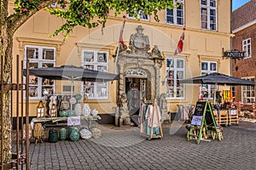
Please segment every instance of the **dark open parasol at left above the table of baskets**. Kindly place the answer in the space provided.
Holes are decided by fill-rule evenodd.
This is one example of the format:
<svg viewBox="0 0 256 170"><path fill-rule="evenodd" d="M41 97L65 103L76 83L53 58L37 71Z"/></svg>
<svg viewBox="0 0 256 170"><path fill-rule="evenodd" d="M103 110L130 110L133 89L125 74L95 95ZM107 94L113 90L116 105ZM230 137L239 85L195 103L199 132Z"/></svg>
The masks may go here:
<svg viewBox="0 0 256 170"><path fill-rule="evenodd" d="M23 75L26 76L26 69L23 70ZM119 75L84 69L74 65L61 65L60 67L47 68L31 68L29 69L30 76L42 77L50 80L70 80L71 81L71 96L73 97L73 81L86 82L109 82L118 80Z"/></svg>

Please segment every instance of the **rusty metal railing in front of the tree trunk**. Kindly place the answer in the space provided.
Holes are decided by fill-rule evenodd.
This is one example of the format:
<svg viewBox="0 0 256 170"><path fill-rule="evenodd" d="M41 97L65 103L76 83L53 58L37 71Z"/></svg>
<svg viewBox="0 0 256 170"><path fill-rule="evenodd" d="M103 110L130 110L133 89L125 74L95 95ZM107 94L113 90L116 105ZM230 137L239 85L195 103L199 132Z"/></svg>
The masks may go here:
<svg viewBox="0 0 256 170"><path fill-rule="evenodd" d="M23 61L20 62L19 55L17 55L17 63L16 63L16 82L12 82L12 75L13 72L11 71L11 82L4 82L3 81L3 55L1 57L1 169L29 169L29 133L28 133L28 126L29 126L29 98L28 98L28 80L29 80L29 70L26 70L26 83L23 82ZM26 68L29 68L28 66L29 62L26 62ZM21 65L21 68L20 68ZM20 71L21 70L21 71ZM20 80L20 81L19 81ZM14 119L16 118L16 126L15 129L11 130L11 136L12 140L15 140L15 148L13 148L11 153L11 161L4 162L4 148L3 148L3 136L5 135L3 132L3 120L4 120L4 94L8 94L7 92L10 92L9 100L10 100L10 119L11 119L11 127L14 127ZM15 95L14 93L15 92ZM26 93L26 100L24 104L24 97L23 93ZM12 104L12 99L16 97L16 105L14 106ZM19 108L20 105L20 108ZM26 108L25 115L24 115L24 105ZM13 111L16 111L16 116L13 116ZM24 124L24 118L25 118L25 127L20 126ZM25 138L24 138L24 134ZM13 143L13 142L12 142Z"/></svg>

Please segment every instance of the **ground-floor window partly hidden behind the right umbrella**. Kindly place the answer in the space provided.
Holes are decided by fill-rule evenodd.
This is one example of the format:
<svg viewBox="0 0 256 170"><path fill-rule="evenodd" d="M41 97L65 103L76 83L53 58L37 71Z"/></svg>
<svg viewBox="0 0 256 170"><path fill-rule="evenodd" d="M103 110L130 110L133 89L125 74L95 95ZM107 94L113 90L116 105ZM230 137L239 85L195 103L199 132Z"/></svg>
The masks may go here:
<svg viewBox="0 0 256 170"><path fill-rule="evenodd" d="M217 72L217 62L202 61L201 62L201 76ZM217 87L216 87L217 88ZM214 97L214 85L202 84L201 92L204 99L213 99Z"/></svg>

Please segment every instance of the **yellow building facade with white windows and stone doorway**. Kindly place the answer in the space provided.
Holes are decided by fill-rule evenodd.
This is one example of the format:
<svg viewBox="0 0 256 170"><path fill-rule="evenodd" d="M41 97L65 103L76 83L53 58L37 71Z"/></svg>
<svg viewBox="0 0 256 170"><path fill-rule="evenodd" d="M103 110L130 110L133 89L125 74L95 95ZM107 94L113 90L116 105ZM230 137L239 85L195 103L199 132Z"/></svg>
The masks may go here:
<svg viewBox="0 0 256 170"><path fill-rule="evenodd" d="M76 81L73 94L82 94L83 97L86 94L88 99L84 102L89 104L91 109L97 109L102 115L113 115L121 105L120 88L123 88L121 91L125 92L129 102L128 92L134 88L131 86L137 83L137 89L140 92L137 97L139 102L143 97L160 101L161 94L165 94L163 96L166 99L164 103L166 106L161 106L162 109L177 112L177 105L195 104L200 90L198 84L180 84L179 80L201 76L212 71L230 74L230 59L223 59L222 52L223 48L230 49L232 36L230 34L230 1L183 0L179 3L183 3L183 6L160 11L160 22L155 21L154 16L145 16L143 13L140 15L142 20L135 20L125 13L116 17L109 14L106 27L103 29L101 26L92 29L75 27L66 42L62 41L61 35L49 37L49 34L59 28L64 21L41 10L15 32L13 68L16 68L15 56L19 54L20 59L24 61L26 57L30 58L32 67L76 65L98 71L122 73L123 82L97 84ZM9 5L12 9L14 3ZM127 53L119 51L118 64L115 65L123 15L126 16L123 39ZM143 37L148 39L145 42L149 47L146 52L146 46L142 44L140 47L139 45L131 47L131 43L139 40L137 36L132 37L138 33L138 28L142 28ZM183 52L173 56L183 28L185 28ZM138 42L142 43L140 40ZM155 59L149 59L154 54L155 46L161 57L159 60L156 59L157 63ZM132 54L133 49L137 51L134 54ZM144 50L145 55L140 50ZM146 55L149 57L147 58ZM172 63L171 67L170 63ZM121 71L121 65L124 66L125 71ZM151 68L154 68L154 71L150 71ZM136 71L140 73L134 73ZM147 76L142 76L143 74ZM142 92L143 80L147 81L144 83L146 89L143 89L145 94ZM13 81L16 81L15 76ZM122 83L124 84L120 86ZM70 81L44 84L44 80L39 78L36 82L31 82L30 87L32 87L29 100L30 116L36 116L38 102L44 99L44 89L47 93L55 95L68 95L71 89ZM202 88L205 99L212 100L212 87ZM131 100L134 101L135 97L133 96ZM17 105L15 101L13 99L13 104ZM128 105L131 106L131 102Z"/></svg>

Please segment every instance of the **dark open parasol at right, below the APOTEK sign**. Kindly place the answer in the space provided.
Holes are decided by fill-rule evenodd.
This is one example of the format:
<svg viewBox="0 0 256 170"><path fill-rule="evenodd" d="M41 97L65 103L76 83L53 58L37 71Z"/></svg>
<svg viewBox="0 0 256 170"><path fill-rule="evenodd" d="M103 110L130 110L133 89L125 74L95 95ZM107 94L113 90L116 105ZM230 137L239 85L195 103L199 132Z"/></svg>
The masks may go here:
<svg viewBox="0 0 256 170"><path fill-rule="evenodd" d="M211 74L207 74L205 76L201 77L192 77L188 79L183 79L180 81L181 83L197 83L197 84L214 84L214 96L213 101L215 104L215 98L216 98L216 86L217 85L227 85L227 86L254 86L255 82L236 78L236 77L230 77L218 72L213 72Z"/></svg>

